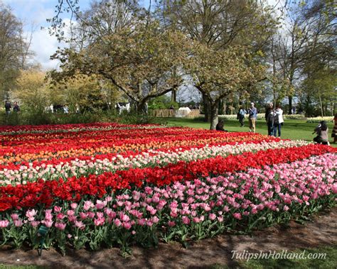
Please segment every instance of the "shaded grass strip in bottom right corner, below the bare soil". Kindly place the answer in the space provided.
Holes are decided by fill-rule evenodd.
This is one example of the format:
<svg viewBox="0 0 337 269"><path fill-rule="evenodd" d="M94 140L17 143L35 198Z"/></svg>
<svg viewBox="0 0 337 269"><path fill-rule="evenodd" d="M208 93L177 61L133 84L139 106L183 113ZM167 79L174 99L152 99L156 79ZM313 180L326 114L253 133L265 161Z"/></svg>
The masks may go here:
<svg viewBox="0 0 337 269"><path fill-rule="evenodd" d="M264 269L264 268L274 268L274 269L287 269L287 268L296 268L296 269L306 269L306 268L336 268L337 265L337 246L332 247L321 247L321 248L305 248L304 250L296 251L287 251L287 253L304 253L306 259L256 259L256 260L233 260L234 266L228 267L228 265L214 265L214 269L225 269L225 268L242 268L242 269ZM278 251L282 253L281 251ZM325 258L308 258L309 253L326 253Z"/></svg>

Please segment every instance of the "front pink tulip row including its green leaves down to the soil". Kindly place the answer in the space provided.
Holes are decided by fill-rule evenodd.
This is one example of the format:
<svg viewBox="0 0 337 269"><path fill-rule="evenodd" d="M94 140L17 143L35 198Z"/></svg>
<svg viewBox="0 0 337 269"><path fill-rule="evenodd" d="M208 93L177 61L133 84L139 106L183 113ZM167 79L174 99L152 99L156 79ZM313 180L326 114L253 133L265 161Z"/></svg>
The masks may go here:
<svg viewBox="0 0 337 269"><path fill-rule="evenodd" d="M286 152L279 150L281 161L273 164L270 151L272 163L263 168L221 171L223 175L206 177L211 172L217 174L213 170L200 179L137 190L122 188L96 200L82 196L75 199L77 202L55 200L45 209L33 204L27 209L12 209L1 214L0 241L16 247L25 242L37 247L36 231L44 225L49 228L47 248L55 246L64 253L68 246L120 246L125 252L134 242L149 246L159 240L186 242L223 231L252 231L333 205L336 154L310 158L304 154L304 160L284 163L289 160L289 156L283 158L290 153ZM262 157L255 158L261 161ZM268 163L266 160L264 163ZM245 161L249 166L260 166L247 158Z"/></svg>

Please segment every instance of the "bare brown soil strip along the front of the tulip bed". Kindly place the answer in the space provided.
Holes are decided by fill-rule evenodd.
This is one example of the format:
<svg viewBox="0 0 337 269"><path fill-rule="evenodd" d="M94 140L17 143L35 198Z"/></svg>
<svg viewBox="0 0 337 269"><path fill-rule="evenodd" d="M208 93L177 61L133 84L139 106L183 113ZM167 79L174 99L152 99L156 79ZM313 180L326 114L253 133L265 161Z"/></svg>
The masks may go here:
<svg viewBox="0 0 337 269"><path fill-rule="evenodd" d="M337 207L323 212L304 225L291 221L287 227L271 227L248 235L222 235L196 241L188 248L179 243L159 243L154 249L133 247L129 258L118 248L102 251L69 251L65 257L51 249L43 251L1 250L0 263L41 265L47 268L207 268L211 265L237 265L232 251L292 251L296 248L336 246Z"/></svg>

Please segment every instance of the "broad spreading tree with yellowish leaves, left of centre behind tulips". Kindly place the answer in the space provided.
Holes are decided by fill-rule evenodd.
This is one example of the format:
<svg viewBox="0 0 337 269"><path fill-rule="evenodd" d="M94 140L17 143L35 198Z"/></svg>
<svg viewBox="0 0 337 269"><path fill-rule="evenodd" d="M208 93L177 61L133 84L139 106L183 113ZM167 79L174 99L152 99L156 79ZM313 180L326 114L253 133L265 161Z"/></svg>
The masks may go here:
<svg viewBox="0 0 337 269"><path fill-rule="evenodd" d="M188 57L188 42L177 31L163 31L156 21L138 23L104 35L81 50L59 50L53 57L63 64L63 72L53 77L101 75L129 99L142 113L146 101L178 87L182 82L182 62Z"/></svg>

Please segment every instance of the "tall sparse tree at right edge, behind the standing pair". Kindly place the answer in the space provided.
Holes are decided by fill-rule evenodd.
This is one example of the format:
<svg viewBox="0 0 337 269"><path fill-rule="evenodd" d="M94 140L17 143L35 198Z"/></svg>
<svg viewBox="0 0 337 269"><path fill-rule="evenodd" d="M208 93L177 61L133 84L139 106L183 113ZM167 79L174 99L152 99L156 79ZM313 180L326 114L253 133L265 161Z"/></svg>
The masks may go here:
<svg viewBox="0 0 337 269"><path fill-rule="evenodd" d="M299 84L313 60L336 58L336 4L333 1L292 1L286 9L284 25L274 36L272 56L274 67L289 87L299 90ZM306 72L304 72L306 70ZM306 74L305 74L306 73ZM293 106L294 91L289 91L289 114Z"/></svg>

